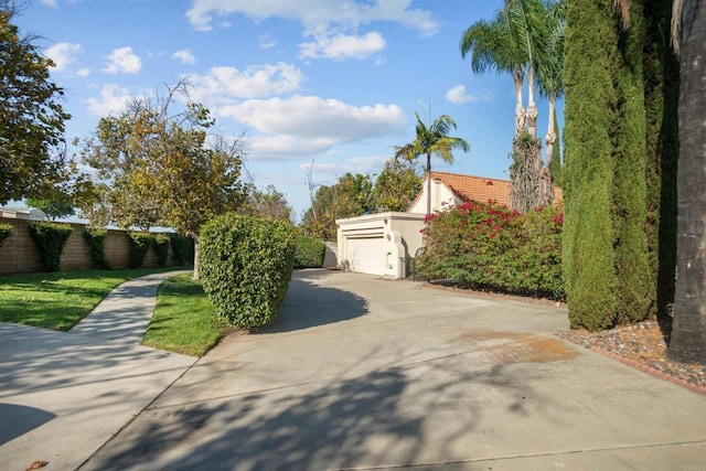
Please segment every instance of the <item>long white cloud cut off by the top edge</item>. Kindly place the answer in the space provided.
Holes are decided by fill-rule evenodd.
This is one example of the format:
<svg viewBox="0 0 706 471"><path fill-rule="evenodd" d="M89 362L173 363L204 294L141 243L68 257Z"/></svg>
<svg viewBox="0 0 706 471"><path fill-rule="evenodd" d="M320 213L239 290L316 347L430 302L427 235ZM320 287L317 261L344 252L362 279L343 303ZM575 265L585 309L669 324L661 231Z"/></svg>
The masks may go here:
<svg viewBox="0 0 706 471"><path fill-rule="evenodd" d="M194 0L186 18L201 31L210 31L214 18L244 14L255 21L285 18L300 22L309 32L336 29L355 31L360 24L389 21L417 30L421 35L434 35L439 23L431 12L411 8L411 0L308 0L306 8L291 0Z"/></svg>

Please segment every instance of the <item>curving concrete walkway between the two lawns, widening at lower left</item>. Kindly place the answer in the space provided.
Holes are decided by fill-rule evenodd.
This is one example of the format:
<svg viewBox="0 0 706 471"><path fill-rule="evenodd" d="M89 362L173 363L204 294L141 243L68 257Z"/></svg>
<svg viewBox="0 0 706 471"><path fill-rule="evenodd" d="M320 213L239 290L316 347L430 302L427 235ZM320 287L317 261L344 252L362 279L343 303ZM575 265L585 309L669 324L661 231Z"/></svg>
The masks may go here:
<svg viewBox="0 0 706 471"><path fill-rule="evenodd" d="M76 469L196 361L139 345L175 274L116 288L69 333L0 323L0 469Z"/></svg>

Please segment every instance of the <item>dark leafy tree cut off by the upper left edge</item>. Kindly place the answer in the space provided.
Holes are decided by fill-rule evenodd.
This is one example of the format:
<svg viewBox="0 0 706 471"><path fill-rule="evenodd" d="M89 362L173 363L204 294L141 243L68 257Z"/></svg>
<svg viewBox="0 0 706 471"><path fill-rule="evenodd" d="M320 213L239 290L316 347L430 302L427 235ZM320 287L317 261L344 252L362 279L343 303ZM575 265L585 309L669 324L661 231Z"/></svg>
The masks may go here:
<svg viewBox="0 0 706 471"><path fill-rule="evenodd" d="M64 90L50 79L52 61L11 23L14 2L0 0L0 204L42 196L62 180Z"/></svg>

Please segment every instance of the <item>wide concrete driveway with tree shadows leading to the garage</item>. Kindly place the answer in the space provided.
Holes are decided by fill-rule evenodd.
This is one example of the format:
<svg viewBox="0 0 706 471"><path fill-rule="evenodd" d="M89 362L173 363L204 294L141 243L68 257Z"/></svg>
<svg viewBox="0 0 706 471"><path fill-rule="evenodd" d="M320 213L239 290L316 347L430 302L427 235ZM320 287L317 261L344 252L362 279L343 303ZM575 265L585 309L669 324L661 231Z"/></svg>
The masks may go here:
<svg viewBox="0 0 706 471"><path fill-rule="evenodd" d="M304 270L82 469L705 470L706 397L563 342L563 308Z"/></svg>

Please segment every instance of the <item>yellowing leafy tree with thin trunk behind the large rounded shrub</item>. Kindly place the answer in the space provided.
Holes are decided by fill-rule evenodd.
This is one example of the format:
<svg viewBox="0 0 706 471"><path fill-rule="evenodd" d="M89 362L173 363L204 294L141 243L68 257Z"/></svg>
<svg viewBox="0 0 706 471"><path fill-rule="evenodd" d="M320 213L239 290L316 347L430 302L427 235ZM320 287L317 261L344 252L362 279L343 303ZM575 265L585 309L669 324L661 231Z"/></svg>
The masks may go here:
<svg viewBox="0 0 706 471"><path fill-rule="evenodd" d="M135 99L119 115L101 118L84 142L84 162L110 181L111 218L121 227L169 226L195 242L194 278L199 278L199 233L212 217L236 211L245 199L239 182L244 137L208 135L214 125L206 108L188 101L173 113L174 96Z"/></svg>

